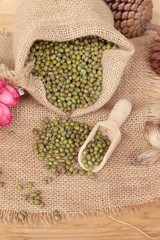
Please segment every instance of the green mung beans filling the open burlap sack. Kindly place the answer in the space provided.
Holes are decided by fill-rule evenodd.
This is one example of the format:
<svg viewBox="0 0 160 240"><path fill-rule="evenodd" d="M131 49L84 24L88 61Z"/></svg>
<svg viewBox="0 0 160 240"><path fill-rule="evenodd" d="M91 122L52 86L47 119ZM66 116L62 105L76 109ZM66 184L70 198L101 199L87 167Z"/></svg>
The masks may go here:
<svg viewBox="0 0 160 240"><path fill-rule="evenodd" d="M48 101L70 114L87 108L102 90L103 51L114 47L106 40L89 36L66 42L36 41L26 64L35 60L32 75L43 82Z"/></svg>

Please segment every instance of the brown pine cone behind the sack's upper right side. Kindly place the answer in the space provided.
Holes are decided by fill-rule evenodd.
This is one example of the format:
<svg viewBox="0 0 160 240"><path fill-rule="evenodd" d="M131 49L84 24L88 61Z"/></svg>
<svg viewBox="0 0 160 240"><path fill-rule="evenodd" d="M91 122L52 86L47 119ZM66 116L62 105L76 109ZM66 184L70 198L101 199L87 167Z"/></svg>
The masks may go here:
<svg viewBox="0 0 160 240"><path fill-rule="evenodd" d="M126 37L138 37L152 19L151 0L104 0L114 15L115 27Z"/></svg>

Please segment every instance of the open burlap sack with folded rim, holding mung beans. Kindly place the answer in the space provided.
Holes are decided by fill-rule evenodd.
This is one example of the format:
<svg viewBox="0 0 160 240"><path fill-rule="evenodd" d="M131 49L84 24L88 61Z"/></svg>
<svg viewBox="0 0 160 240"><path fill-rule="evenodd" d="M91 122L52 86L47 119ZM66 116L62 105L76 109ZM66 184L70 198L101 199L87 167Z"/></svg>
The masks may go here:
<svg viewBox="0 0 160 240"><path fill-rule="evenodd" d="M111 41L119 49L104 51L101 96L92 106L75 110L72 116L98 110L112 97L134 52L133 45L113 26L112 14L103 0L25 0L15 21L13 49L16 70L24 67L30 47L38 39L62 42L96 35ZM48 102L43 83L39 80L20 76L18 85L53 112L63 114Z"/></svg>

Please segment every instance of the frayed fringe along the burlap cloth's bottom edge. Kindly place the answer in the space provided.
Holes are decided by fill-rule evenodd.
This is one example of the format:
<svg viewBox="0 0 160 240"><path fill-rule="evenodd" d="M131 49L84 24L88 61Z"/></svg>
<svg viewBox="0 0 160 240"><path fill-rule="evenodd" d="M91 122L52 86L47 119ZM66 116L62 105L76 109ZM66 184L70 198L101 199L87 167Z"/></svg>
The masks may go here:
<svg viewBox="0 0 160 240"><path fill-rule="evenodd" d="M154 199L152 202L137 204L133 206L123 206L123 207L112 207L106 209L98 209L94 212L79 212L79 213L61 213L62 220L61 222L66 222L69 220L78 220L84 219L87 217L109 217L111 216L122 216L124 214L131 214L131 213L138 213L139 211L144 211L148 207L160 205L160 198ZM22 209L25 211L25 209ZM54 211L54 209L53 209ZM53 217L52 213L26 213L25 220L22 221L18 218L17 211L12 210L0 210L0 224L20 224L20 225L27 225L27 226L41 226L41 225L55 225L56 222Z"/></svg>

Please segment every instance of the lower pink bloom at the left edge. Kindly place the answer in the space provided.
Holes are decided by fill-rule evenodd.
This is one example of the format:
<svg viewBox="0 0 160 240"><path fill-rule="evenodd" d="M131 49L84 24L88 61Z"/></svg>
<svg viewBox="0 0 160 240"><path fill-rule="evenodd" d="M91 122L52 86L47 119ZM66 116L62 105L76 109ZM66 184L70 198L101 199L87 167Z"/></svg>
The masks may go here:
<svg viewBox="0 0 160 240"><path fill-rule="evenodd" d="M3 103L0 103L0 126L7 126L12 121L12 112L11 110L4 105Z"/></svg>

